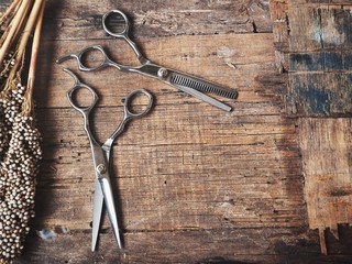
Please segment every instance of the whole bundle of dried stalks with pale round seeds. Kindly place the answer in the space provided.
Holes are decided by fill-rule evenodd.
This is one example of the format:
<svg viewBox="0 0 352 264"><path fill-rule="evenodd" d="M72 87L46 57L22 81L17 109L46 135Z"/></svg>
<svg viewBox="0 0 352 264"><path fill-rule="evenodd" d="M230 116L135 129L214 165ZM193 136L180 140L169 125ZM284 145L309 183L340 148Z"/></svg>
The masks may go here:
<svg viewBox="0 0 352 264"><path fill-rule="evenodd" d="M19 256L34 217L42 151L32 96L44 6L45 0L13 0L0 18L0 264Z"/></svg>

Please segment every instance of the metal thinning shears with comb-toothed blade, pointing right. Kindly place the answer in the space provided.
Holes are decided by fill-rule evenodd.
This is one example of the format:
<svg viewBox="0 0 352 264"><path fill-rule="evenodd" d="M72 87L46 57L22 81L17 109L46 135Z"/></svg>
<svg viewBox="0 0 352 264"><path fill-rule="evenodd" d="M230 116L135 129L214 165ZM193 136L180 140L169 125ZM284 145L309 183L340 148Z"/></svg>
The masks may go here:
<svg viewBox="0 0 352 264"><path fill-rule="evenodd" d="M113 32L110 30L108 25L108 21L113 21L114 16L119 15L119 18L116 18L114 22L118 23L123 23L123 30L118 30L119 32ZM121 19L122 18L122 19ZM80 70L85 72L92 72L92 70L99 70L105 67L116 67L121 72L131 72L131 73L139 73L145 76L150 76L153 78L156 78L167 85L172 85L175 88L187 92L202 101L206 101L215 107L218 107L224 111L231 111L231 107L224 105L221 101L216 100L212 97L209 97L205 95L204 92L210 92L215 94L221 97L230 98L230 99L235 99L238 97L238 92L228 88L220 87L218 85L211 84L207 80L204 80L201 78L187 75L174 69L169 69L166 67L162 67L160 65L153 64L148 59L146 59L142 53L139 51L136 44L131 41L129 37L129 32L130 32L130 22L128 16L121 12L120 10L111 10L107 12L102 16L102 26L106 33L108 33L111 36L118 37L118 38L123 38L124 41L128 42L128 44L132 47L133 52L135 53L138 59L140 61L141 65L140 66L124 66L121 65L117 62L111 61L107 53L105 52L103 47L100 45L94 45L94 46L88 46L78 53L73 53L68 55L64 55L59 57L56 62L62 63L68 58L76 58L78 62L78 66ZM117 31L117 30L114 30ZM88 57L89 53L92 51L98 51L101 53L101 62L98 65L95 66L87 66L85 65L85 62L82 57Z"/></svg>

